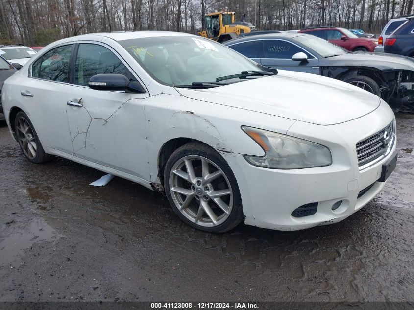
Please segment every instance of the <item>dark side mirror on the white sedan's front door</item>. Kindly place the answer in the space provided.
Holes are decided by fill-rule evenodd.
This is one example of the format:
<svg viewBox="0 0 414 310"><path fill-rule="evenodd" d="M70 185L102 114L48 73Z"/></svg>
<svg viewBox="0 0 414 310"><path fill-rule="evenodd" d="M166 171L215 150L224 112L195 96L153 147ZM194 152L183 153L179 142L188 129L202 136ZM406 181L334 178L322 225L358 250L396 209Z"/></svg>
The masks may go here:
<svg viewBox="0 0 414 310"><path fill-rule="evenodd" d="M140 83L130 81L122 74L96 74L89 79L90 88L98 91L129 91L131 93L145 93Z"/></svg>

